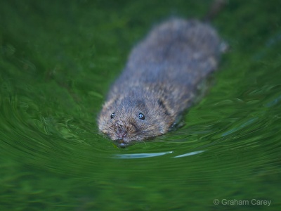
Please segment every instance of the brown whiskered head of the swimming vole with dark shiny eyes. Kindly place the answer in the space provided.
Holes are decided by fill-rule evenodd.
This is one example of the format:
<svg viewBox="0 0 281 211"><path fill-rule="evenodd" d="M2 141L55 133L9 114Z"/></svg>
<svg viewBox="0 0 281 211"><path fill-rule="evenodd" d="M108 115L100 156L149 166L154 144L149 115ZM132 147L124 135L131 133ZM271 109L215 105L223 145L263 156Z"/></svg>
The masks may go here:
<svg viewBox="0 0 281 211"><path fill-rule="evenodd" d="M103 106L98 128L123 148L166 133L173 122L161 100L117 97Z"/></svg>

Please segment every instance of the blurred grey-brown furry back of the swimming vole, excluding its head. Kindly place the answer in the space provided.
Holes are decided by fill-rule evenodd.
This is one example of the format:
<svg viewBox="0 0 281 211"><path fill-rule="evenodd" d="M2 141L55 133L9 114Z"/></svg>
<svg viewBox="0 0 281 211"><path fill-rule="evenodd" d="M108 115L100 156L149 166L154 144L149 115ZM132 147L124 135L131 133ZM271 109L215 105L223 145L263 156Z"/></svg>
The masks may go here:
<svg viewBox="0 0 281 211"><path fill-rule="evenodd" d="M178 115L191 105L200 81L216 70L219 42L214 28L199 20L172 18L158 25L131 51L108 99L131 97L132 90L146 95L146 89L155 98L162 95Z"/></svg>

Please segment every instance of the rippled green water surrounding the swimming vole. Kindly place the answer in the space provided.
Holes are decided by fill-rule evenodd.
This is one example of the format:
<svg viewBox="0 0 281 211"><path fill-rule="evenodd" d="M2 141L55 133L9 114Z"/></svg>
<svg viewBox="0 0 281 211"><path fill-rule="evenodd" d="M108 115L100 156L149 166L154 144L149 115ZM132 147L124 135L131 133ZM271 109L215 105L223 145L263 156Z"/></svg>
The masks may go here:
<svg viewBox="0 0 281 211"><path fill-rule="evenodd" d="M0 210L280 210L280 1L228 1L230 51L183 127L125 149L98 133L132 46L210 3L0 1Z"/></svg>

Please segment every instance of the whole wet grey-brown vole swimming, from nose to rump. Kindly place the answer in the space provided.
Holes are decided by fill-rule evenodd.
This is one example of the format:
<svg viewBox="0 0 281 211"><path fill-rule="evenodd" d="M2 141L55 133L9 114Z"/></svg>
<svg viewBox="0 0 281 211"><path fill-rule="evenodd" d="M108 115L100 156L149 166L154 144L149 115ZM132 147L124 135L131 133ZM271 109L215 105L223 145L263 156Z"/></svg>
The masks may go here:
<svg viewBox="0 0 281 211"><path fill-rule="evenodd" d="M168 132L216 70L219 45L216 31L198 20L173 18L152 29L112 85L100 131L122 145Z"/></svg>

